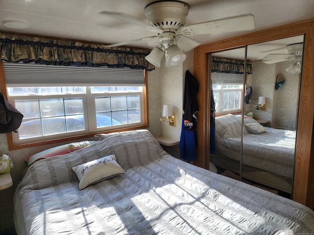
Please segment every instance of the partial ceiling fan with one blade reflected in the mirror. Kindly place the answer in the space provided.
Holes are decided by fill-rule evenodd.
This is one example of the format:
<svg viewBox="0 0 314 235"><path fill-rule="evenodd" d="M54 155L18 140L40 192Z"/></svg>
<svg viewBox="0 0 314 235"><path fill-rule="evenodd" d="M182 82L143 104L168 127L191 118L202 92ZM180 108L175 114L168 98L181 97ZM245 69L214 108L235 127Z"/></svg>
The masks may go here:
<svg viewBox="0 0 314 235"><path fill-rule="evenodd" d="M262 62L266 64L274 64L287 60L292 60L293 63L287 68L287 72L299 74L301 72L303 43L295 43L287 46L288 54L269 54L266 55Z"/></svg>

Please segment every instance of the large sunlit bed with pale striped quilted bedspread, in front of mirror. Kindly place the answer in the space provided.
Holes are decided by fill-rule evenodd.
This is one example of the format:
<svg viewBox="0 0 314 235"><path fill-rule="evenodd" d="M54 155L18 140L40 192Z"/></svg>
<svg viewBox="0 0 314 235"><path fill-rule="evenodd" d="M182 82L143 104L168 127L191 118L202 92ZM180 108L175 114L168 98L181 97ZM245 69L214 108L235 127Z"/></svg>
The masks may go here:
<svg viewBox="0 0 314 235"><path fill-rule="evenodd" d="M97 138L28 167L14 195L19 235L314 234L311 209L176 159L147 130ZM73 167L112 155L123 172L79 189Z"/></svg>

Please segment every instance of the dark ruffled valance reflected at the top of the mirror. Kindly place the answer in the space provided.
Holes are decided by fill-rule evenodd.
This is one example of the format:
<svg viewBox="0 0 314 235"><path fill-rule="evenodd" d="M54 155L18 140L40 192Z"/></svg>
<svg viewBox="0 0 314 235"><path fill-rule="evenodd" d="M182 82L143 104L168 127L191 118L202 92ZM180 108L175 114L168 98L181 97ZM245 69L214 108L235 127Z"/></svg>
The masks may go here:
<svg viewBox="0 0 314 235"><path fill-rule="evenodd" d="M211 59L211 71L220 73L244 73L244 61L243 60L231 60L212 57ZM247 74L253 73L252 62L246 62Z"/></svg>

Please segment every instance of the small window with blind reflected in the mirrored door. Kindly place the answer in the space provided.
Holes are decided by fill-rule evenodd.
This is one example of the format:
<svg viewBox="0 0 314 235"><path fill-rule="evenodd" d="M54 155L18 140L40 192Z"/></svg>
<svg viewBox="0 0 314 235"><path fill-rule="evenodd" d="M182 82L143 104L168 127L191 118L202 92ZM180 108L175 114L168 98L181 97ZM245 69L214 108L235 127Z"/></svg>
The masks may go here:
<svg viewBox="0 0 314 235"><path fill-rule="evenodd" d="M211 73L216 114L242 109L243 74Z"/></svg>

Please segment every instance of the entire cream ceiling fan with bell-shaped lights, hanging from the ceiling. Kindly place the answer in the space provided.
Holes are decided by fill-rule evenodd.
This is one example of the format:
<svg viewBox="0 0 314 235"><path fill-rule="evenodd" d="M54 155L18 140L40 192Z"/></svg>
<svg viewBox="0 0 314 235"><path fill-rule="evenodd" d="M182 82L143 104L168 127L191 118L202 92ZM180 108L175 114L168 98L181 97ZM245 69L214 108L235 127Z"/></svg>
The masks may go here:
<svg viewBox="0 0 314 235"><path fill-rule="evenodd" d="M181 1L153 2L145 7L148 24L144 24L127 14L103 11L101 14L122 18L132 24L144 26L157 33L154 36L111 44L106 47L118 47L131 42L147 41L148 46L155 47L145 57L147 61L156 67L160 67L161 60L165 56L165 66L174 67L185 60L186 55L183 51L192 50L194 47L202 44L193 39L193 35L245 31L255 28L254 16L252 14L185 25L188 11L189 6Z"/></svg>

